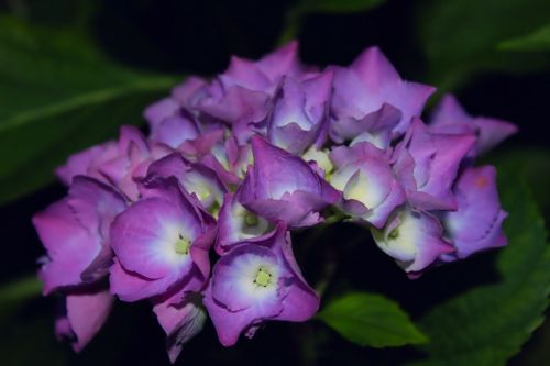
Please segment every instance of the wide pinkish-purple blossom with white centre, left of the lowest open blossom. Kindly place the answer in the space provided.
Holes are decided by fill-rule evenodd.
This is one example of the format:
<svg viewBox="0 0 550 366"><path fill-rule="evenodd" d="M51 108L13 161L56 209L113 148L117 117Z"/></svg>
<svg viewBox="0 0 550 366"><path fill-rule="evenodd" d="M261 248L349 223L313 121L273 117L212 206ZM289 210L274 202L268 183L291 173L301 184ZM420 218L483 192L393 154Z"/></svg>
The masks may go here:
<svg viewBox="0 0 550 366"><path fill-rule="evenodd" d="M135 301L174 287L198 290L210 271L213 219L174 177L150 179L143 193L112 223L111 291Z"/></svg>

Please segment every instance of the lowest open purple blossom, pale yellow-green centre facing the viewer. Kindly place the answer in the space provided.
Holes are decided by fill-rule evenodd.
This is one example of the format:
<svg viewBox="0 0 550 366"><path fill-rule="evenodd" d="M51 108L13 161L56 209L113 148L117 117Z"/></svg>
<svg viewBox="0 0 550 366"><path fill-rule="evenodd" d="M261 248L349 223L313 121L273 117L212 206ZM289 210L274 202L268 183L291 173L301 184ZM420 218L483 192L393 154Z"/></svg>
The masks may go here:
<svg viewBox="0 0 550 366"><path fill-rule="evenodd" d="M283 222L257 240L243 241L213 267L205 306L224 346L245 331L253 336L268 320L305 321L319 298L296 264Z"/></svg>

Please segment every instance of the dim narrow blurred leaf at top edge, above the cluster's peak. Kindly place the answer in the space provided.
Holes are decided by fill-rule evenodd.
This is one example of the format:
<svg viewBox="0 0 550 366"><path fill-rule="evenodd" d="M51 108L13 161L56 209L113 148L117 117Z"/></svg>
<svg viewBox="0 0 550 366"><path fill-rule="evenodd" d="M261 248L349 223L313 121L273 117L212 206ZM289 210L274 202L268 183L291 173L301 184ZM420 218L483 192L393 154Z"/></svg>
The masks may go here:
<svg viewBox="0 0 550 366"><path fill-rule="evenodd" d="M279 36L284 44L298 35L302 18L312 13L355 13L382 5L386 0L298 0L288 9L285 25Z"/></svg>

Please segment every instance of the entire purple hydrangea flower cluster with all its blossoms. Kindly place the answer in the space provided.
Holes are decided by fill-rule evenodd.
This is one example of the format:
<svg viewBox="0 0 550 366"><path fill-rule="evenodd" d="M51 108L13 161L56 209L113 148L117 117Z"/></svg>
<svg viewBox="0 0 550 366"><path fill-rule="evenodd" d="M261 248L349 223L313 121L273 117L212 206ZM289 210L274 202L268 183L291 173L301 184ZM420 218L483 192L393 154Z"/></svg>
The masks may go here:
<svg viewBox="0 0 550 366"><path fill-rule="evenodd" d="M207 314L226 346L305 321L319 298L290 231L329 215L370 228L410 277L505 245L495 169L473 163L516 127L451 96L425 124L433 91L376 47L319 70L297 43L188 78L145 110L148 137L124 126L57 169L68 195L33 219L57 333L81 350L116 297L151 301L172 361Z"/></svg>

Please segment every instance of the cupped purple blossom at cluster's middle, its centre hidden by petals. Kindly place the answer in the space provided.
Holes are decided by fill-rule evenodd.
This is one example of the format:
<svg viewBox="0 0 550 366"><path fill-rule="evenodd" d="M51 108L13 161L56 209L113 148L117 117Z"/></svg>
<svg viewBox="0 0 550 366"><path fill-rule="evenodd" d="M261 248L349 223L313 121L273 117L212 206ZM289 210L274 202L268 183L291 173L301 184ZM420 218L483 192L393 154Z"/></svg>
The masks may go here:
<svg viewBox="0 0 550 366"><path fill-rule="evenodd" d="M336 203L340 195L306 162L275 147L260 136L252 137L254 165L249 168L239 201L250 211L290 228L321 221L319 211Z"/></svg>

